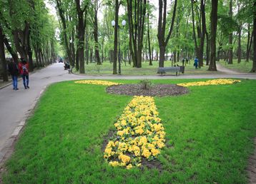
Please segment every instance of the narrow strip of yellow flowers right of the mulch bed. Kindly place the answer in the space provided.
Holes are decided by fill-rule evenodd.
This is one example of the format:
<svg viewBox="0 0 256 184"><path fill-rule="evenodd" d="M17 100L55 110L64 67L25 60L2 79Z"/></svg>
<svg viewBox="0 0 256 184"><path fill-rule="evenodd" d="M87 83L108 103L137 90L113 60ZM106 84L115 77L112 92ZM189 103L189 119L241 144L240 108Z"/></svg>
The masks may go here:
<svg viewBox="0 0 256 184"><path fill-rule="evenodd" d="M220 85L220 84L232 84L232 83L240 83L240 80L234 79L213 79L209 81L200 81L200 82L192 82L192 83L177 83L178 86L208 86L208 85Z"/></svg>

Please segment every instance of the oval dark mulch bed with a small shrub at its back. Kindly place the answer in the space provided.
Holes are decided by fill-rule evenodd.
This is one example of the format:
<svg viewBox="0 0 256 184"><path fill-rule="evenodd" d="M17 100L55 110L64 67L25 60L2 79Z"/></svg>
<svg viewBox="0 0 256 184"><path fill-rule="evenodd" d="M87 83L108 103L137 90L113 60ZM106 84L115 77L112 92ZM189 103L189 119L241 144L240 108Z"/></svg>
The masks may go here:
<svg viewBox="0 0 256 184"><path fill-rule="evenodd" d="M142 88L141 84L122 84L109 86L107 93L128 96L177 96L189 93L188 88L176 84L154 84L150 89Z"/></svg>

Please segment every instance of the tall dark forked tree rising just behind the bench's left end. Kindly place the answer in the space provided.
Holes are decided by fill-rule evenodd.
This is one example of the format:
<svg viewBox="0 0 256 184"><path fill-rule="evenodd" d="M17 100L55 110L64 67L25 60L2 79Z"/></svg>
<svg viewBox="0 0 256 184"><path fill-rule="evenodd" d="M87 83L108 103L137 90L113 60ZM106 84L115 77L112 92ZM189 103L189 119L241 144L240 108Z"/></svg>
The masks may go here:
<svg viewBox="0 0 256 184"><path fill-rule="evenodd" d="M164 6L163 6L163 3L164 3ZM168 31L167 38L165 38L165 28L166 28L166 21L167 21L166 19L167 0L159 0L159 19L158 19L158 32L157 32L157 39L159 44L159 67L164 67L165 48L172 34L176 8L177 8L177 0L174 1L174 8L172 11L172 22Z"/></svg>

